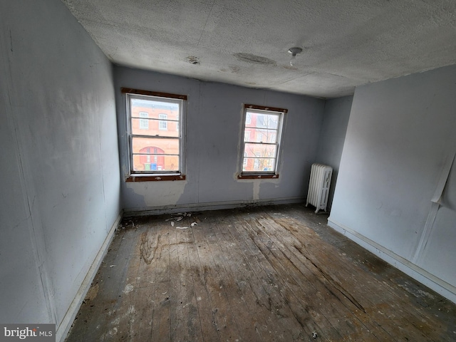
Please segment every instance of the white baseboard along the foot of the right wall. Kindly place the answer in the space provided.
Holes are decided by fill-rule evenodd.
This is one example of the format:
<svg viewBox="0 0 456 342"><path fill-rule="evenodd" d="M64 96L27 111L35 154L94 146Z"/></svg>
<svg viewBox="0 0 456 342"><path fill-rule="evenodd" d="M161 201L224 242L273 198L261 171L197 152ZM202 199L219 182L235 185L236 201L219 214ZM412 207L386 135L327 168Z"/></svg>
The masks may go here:
<svg viewBox="0 0 456 342"><path fill-rule="evenodd" d="M353 242L356 242L369 252L375 254L380 259L388 262L388 264L394 266L396 269L403 271L416 281L419 281L421 284L429 287L433 291L437 292L437 294L441 294L456 304L456 287L452 286L452 284L449 284L437 276L430 274L425 269L420 268L420 266L417 266L407 259L400 257L398 254L395 254L389 249L377 244L368 237L365 237L362 234L355 232L353 229L336 222L331 218L331 216L328 217L328 226L348 237L348 239L351 239Z"/></svg>

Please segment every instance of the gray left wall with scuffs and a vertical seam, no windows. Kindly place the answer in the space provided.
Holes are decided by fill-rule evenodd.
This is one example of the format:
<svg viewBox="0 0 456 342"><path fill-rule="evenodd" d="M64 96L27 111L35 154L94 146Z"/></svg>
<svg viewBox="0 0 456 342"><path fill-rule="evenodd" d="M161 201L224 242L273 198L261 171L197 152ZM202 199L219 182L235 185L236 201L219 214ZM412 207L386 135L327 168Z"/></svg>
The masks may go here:
<svg viewBox="0 0 456 342"><path fill-rule="evenodd" d="M120 213L112 67L59 0L0 26L0 322L59 326Z"/></svg>

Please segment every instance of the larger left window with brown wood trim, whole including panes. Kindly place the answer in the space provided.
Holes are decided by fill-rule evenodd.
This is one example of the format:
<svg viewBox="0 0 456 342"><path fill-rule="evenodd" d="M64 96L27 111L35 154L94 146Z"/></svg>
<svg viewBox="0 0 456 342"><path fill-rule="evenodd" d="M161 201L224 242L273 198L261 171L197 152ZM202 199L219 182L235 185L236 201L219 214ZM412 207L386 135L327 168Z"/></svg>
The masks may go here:
<svg viewBox="0 0 456 342"><path fill-rule="evenodd" d="M182 120L187 97L125 88L122 91L126 93L128 107L130 177L127 180L185 179ZM178 129L168 130L169 123Z"/></svg>

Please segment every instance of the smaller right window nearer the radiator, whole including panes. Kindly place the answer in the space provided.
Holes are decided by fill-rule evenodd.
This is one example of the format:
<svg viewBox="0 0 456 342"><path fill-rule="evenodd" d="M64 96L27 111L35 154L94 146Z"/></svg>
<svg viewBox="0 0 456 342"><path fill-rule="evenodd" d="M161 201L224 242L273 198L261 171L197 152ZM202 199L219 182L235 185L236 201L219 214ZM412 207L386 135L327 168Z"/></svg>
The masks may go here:
<svg viewBox="0 0 456 342"><path fill-rule="evenodd" d="M286 109L244 105L242 170L239 178L278 177L281 130Z"/></svg>

